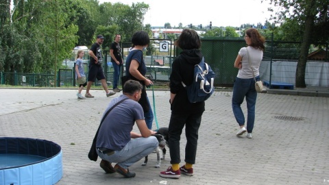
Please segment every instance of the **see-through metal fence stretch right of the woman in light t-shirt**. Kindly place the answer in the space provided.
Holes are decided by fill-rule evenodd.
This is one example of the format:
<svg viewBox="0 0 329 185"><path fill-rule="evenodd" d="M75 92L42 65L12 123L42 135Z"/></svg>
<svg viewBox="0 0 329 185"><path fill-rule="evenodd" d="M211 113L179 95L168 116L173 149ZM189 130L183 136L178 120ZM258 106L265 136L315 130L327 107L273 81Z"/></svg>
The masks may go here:
<svg viewBox="0 0 329 185"><path fill-rule="evenodd" d="M260 78L268 88L329 91L328 43L318 43L324 49L309 49L306 62L306 88L295 87L295 75L301 42L267 42Z"/></svg>

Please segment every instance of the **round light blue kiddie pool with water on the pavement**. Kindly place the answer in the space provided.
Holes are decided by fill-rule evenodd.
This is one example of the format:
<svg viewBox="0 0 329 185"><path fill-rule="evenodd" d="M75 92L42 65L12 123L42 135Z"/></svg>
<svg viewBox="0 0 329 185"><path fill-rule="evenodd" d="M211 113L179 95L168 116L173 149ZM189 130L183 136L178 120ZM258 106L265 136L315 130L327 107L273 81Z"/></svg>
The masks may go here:
<svg viewBox="0 0 329 185"><path fill-rule="evenodd" d="M0 185L56 184L62 175L60 145L34 138L0 138Z"/></svg>

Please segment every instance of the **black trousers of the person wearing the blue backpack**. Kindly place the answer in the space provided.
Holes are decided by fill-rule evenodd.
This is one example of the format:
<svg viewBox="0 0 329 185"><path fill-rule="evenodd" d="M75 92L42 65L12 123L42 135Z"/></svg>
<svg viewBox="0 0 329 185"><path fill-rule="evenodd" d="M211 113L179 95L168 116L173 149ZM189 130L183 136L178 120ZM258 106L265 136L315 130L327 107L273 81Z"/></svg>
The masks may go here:
<svg viewBox="0 0 329 185"><path fill-rule="evenodd" d="M180 135L185 126L186 146L185 162L195 164L197 139L203 112L197 114L174 114L171 112L169 123L169 151L171 164L180 163Z"/></svg>

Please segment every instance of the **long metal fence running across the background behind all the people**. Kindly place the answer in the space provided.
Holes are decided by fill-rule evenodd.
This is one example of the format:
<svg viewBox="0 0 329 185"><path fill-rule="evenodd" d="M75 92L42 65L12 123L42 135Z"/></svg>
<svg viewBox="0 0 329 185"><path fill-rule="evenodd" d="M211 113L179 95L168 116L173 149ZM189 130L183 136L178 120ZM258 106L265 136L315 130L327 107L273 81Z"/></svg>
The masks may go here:
<svg viewBox="0 0 329 185"><path fill-rule="evenodd" d="M159 51L159 42L168 43L168 51ZM156 83L169 82L171 64L180 51L174 45L174 40L151 40L151 50L144 56L147 65L147 76ZM243 38L202 38L202 53L208 64L215 71L215 86L232 87L238 69L233 67L234 60L241 47L245 47ZM310 90L329 90L329 59L328 44L322 44L324 49L313 49L306 63L306 88ZM300 55L300 42L273 42L267 40L263 61L260 64L260 78L268 88L295 89L295 71ZM127 58L130 43L121 43L123 60ZM310 49L311 50L311 49ZM321 55L316 58L316 52ZM106 75L108 86L112 85L113 72L109 51L104 52L103 71ZM310 54L311 55L311 54ZM88 60L85 62L85 73L88 75ZM125 62L124 62L125 63ZM75 64L75 63L74 63ZM125 73L125 66L121 68L121 74ZM54 87L53 75L28 74L28 73L0 73L1 84L12 86L47 86ZM75 70L60 69L58 71L58 84L56 86L75 86ZM95 86L100 86L95 82Z"/></svg>

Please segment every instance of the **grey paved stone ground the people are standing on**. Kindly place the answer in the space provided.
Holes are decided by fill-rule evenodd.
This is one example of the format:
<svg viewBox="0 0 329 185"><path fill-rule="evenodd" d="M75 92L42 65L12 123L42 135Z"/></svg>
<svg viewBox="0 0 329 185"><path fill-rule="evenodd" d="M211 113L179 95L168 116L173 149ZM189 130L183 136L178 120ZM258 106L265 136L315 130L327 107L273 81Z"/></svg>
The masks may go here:
<svg viewBox="0 0 329 185"><path fill-rule="evenodd" d="M219 91L206 101L199 130L195 175L179 180L159 176L169 167L169 151L160 169L140 162L125 179L106 174L100 160L87 154L101 115L113 97L91 90L92 99L78 100L77 90L0 88L0 136L51 140L62 147L63 177L67 184L329 184L329 98L260 93L253 138L236 137L231 91ZM84 93L84 92L83 92ZM152 91L149 90L151 104ZM160 127L169 124L169 91L155 90ZM245 103L243 110L245 111ZM156 122L154 121L154 130ZM137 131L137 128L134 127ZM182 134L181 158L186 139ZM182 163L183 164L183 163Z"/></svg>

